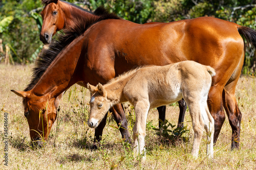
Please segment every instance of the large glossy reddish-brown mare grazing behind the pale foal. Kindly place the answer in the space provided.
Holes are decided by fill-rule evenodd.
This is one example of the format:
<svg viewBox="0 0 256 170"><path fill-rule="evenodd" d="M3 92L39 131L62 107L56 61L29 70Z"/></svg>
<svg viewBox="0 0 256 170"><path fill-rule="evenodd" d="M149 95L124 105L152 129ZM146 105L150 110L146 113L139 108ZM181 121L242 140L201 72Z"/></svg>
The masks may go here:
<svg viewBox="0 0 256 170"><path fill-rule="evenodd" d="M245 42L242 37L256 46L254 30L212 17L139 25L118 19L102 9L98 10L98 13L103 16L95 16L81 23L85 25L86 31L75 33L80 36L73 41L71 36L66 41L56 42L55 44L70 44L64 47L58 44L61 47L57 49L62 49L58 52L59 55L56 54L55 48L50 48L52 50L48 50L49 53L54 53L50 60L52 63L47 66L39 65L38 69L40 66L46 67L44 71L35 73L36 78L25 91L16 92L24 97L32 140L38 136L33 129L42 130L38 120L39 109L48 106L48 120L44 114L44 127L50 122L50 129L56 116L55 99L76 82L104 84L134 66L167 65L193 60L210 65L216 70L217 75L212 78L207 100L210 113L215 119L214 142L217 141L225 119L224 107L232 128L232 148L239 148L242 114L235 98L235 89L245 54ZM51 46L54 45L50 44ZM47 59L42 59L44 60L48 62ZM117 107L114 106L114 109ZM120 105L119 109L122 110ZM120 120L120 129L124 131L122 135L127 132L127 122L123 117L125 115L116 117ZM44 133L47 139L46 130ZM129 133L123 137L129 138Z"/></svg>

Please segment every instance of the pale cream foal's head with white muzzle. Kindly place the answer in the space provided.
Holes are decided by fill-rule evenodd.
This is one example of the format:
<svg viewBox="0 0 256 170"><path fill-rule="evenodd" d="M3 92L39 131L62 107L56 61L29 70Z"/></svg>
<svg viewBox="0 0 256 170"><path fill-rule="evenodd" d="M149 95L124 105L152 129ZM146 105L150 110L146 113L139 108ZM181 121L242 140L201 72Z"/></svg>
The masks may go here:
<svg viewBox="0 0 256 170"><path fill-rule="evenodd" d="M96 87L88 83L87 87L92 94L88 125L91 128L96 128L106 112L112 107L112 101L106 97L106 90L100 83Z"/></svg>

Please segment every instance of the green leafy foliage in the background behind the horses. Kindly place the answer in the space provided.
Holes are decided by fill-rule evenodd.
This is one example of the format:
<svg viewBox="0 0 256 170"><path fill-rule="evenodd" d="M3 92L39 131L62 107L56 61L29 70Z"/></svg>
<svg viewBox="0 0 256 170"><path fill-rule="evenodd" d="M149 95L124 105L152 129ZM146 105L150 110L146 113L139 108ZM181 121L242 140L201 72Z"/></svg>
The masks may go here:
<svg viewBox="0 0 256 170"><path fill-rule="evenodd" d="M110 12L137 23L169 22L212 16L256 30L255 0L69 0L68 2L91 11L104 6ZM0 38L3 39L4 45L11 46L15 62L33 62L39 46L42 46L39 41L41 8L40 0L0 2ZM246 53L244 73L255 69L255 58L256 55L250 48Z"/></svg>

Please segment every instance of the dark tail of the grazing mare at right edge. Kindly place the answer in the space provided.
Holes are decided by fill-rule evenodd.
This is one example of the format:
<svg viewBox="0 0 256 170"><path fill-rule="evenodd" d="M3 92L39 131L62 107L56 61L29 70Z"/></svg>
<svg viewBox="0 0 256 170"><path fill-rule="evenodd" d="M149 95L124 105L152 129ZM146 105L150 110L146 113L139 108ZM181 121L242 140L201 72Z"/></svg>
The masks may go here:
<svg viewBox="0 0 256 170"><path fill-rule="evenodd" d="M251 44L256 48L256 31L248 27L241 26L238 28L239 34L246 39L247 44Z"/></svg>

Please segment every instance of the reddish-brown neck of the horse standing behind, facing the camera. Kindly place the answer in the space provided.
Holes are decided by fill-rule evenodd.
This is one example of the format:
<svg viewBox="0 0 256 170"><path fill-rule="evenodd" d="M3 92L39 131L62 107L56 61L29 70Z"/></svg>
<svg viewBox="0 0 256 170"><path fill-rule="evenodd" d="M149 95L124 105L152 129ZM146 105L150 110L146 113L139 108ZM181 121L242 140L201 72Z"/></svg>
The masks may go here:
<svg viewBox="0 0 256 170"><path fill-rule="evenodd" d="M63 10L63 13L66 16L64 28L74 27L76 25L76 21L79 21L79 20L87 21L88 19L99 17L90 12L83 11L79 8L71 6L65 2L61 3L61 8Z"/></svg>

